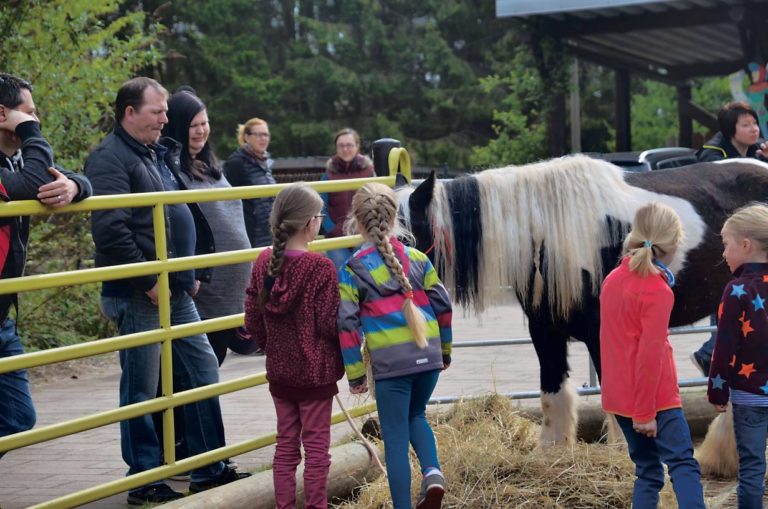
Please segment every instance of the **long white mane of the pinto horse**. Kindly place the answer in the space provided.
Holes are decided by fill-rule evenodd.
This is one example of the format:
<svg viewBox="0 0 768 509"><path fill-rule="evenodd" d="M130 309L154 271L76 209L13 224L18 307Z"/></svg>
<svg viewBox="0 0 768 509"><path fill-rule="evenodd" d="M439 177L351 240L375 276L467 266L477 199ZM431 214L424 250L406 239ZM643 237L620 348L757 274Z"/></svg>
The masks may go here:
<svg viewBox="0 0 768 509"><path fill-rule="evenodd" d="M543 277L551 313L567 317L582 299L582 270L590 274L596 292L603 278L600 248L625 233L618 225L609 228L606 216L628 224L640 205L618 167L582 155L486 170L474 177L482 221L477 311L505 302L510 290L512 295L533 291L538 306ZM453 286L456 254L442 184L435 186L430 213L433 227L447 234L435 235L435 256L446 269L446 284ZM529 288L532 267L536 275Z"/></svg>

